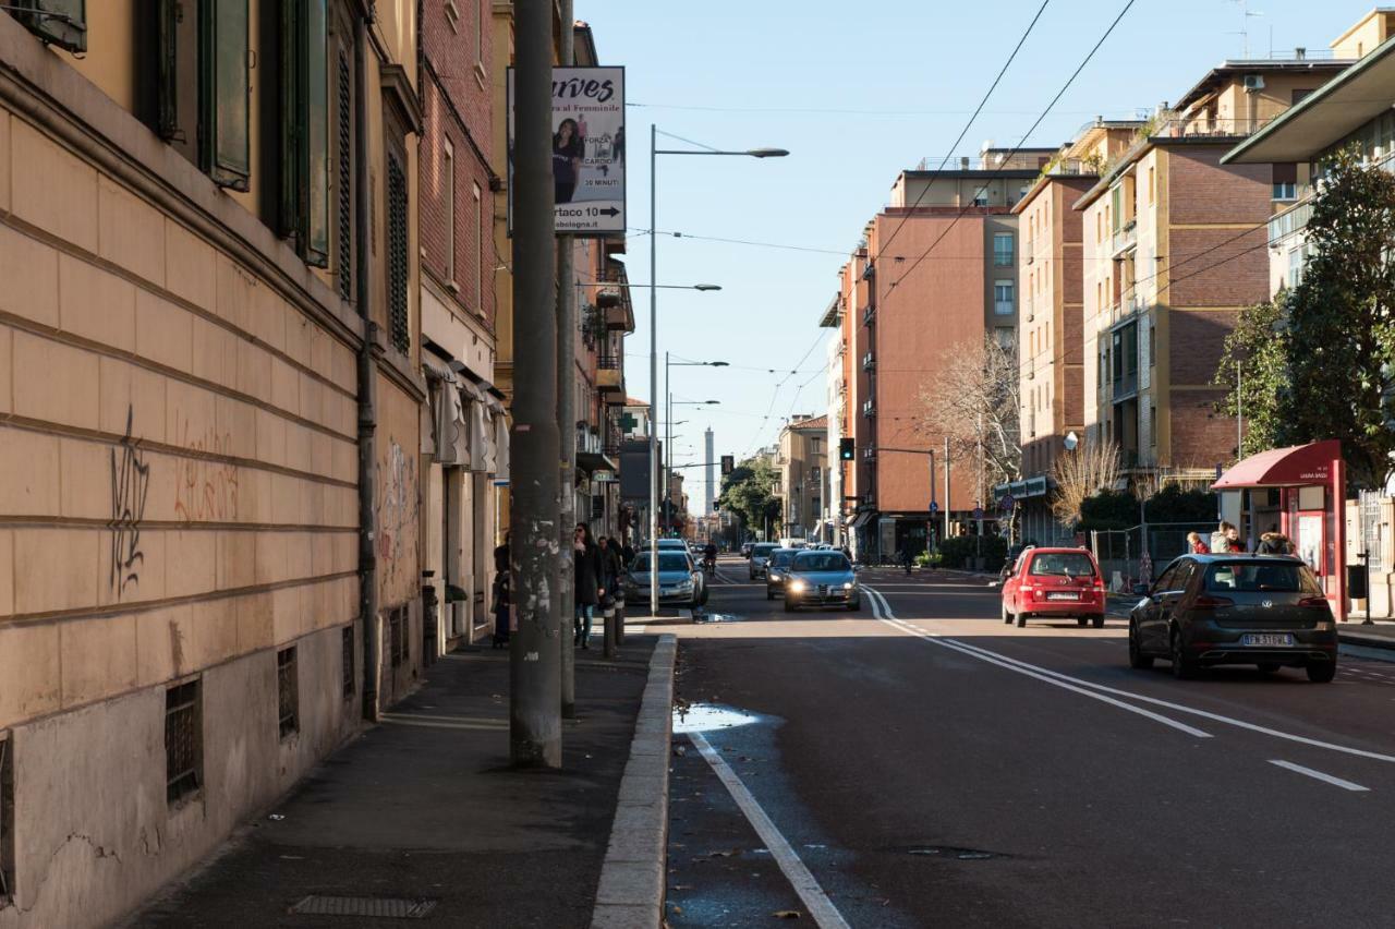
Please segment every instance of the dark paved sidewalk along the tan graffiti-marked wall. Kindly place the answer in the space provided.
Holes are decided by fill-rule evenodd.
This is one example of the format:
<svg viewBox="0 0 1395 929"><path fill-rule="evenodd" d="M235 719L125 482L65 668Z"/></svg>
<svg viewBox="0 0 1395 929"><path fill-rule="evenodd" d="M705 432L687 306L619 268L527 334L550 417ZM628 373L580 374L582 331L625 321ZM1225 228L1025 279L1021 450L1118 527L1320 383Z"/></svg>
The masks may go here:
<svg viewBox="0 0 1395 929"><path fill-rule="evenodd" d="M421 925L590 926L632 739L639 750L653 732L650 721L636 735L651 656L654 679L671 683L672 647L656 651L657 642L629 635L614 663L598 640L576 653L579 718L564 721L559 771L508 764L508 653L445 656L381 725L127 925L396 926L414 902L434 901ZM647 693L646 718L667 720L654 699L663 688ZM661 787L643 799L667 810L667 778ZM663 873L661 856L654 866ZM311 894L353 900L294 912Z"/></svg>

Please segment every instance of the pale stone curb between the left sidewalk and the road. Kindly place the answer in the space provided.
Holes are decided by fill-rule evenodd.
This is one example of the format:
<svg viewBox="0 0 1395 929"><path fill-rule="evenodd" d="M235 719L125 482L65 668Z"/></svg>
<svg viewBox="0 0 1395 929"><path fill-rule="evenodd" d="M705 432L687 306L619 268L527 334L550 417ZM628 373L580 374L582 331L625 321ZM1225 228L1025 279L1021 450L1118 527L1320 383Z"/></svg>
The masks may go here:
<svg viewBox="0 0 1395 929"><path fill-rule="evenodd" d="M649 683L635 723L629 763L619 783L591 929L656 929L663 925L677 653L675 636L658 636L649 661Z"/></svg>

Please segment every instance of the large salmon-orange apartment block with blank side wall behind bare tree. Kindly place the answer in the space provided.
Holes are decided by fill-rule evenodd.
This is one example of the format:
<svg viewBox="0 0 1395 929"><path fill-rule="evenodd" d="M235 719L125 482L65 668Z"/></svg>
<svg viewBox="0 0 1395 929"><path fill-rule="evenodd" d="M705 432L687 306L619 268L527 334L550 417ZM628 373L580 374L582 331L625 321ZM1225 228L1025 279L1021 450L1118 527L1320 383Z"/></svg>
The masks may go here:
<svg viewBox="0 0 1395 929"><path fill-rule="evenodd" d="M944 499L943 437L925 432L921 395L954 346L1017 343L1013 206L1055 155L985 148L975 167L963 159L954 170L903 172L890 205L866 226L866 254L859 248L850 268L859 269L861 310L850 322L858 353L854 530L865 554L923 551L932 499L939 519L949 512L953 522L970 519L988 495L976 462L951 462Z"/></svg>

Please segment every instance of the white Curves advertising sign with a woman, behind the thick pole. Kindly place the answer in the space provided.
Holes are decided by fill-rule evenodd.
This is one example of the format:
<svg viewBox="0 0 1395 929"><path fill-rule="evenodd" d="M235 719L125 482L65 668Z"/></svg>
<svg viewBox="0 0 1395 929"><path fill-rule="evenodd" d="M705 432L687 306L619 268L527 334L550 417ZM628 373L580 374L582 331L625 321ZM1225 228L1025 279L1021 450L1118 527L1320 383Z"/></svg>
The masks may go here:
<svg viewBox="0 0 1395 929"><path fill-rule="evenodd" d="M509 229L513 216L513 68ZM552 68L552 197L559 234L625 234L625 68Z"/></svg>

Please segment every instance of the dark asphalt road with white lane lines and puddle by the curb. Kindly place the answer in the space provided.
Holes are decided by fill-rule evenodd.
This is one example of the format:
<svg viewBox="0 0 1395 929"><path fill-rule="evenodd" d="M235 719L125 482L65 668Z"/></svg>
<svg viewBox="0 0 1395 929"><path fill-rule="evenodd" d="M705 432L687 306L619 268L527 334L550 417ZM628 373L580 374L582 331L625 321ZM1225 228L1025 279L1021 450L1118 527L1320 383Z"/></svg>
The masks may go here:
<svg viewBox="0 0 1395 929"><path fill-rule="evenodd" d="M968 579L791 615L718 571L717 621L665 629L720 709L675 734L675 929L1395 921L1395 664L1183 682Z"/></svg>

